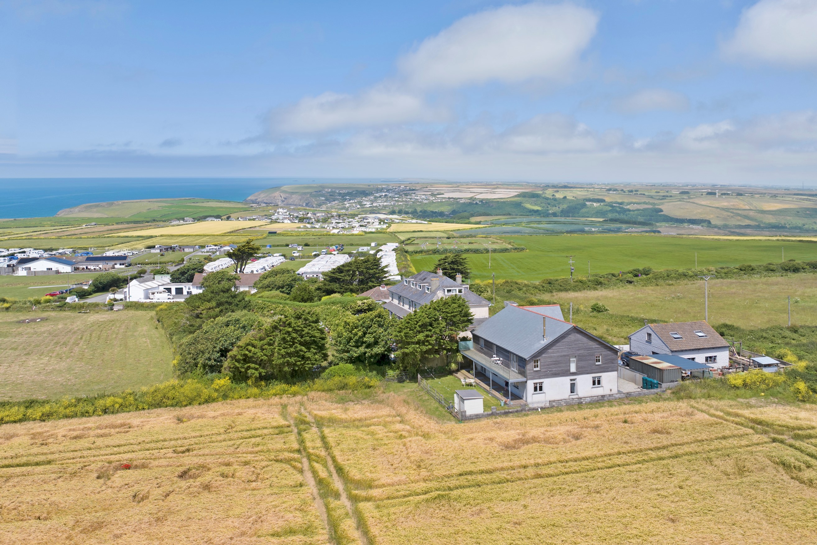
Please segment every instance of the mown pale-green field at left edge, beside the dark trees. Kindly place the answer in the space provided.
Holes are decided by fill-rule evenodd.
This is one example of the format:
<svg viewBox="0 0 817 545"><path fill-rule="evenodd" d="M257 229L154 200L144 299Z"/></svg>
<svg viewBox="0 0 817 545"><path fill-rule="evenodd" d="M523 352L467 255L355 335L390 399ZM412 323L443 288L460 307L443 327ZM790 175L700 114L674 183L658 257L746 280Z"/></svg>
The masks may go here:
<svg viewBox="0 0 817 545"><path fill-rule="evenodd" d="M18 323L39 317L47 320ZM3 313L0 346L0 400L96 395L172 376L170 345L151 311Z"/></svg>

